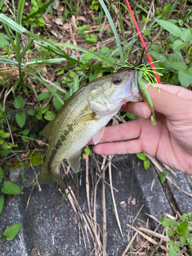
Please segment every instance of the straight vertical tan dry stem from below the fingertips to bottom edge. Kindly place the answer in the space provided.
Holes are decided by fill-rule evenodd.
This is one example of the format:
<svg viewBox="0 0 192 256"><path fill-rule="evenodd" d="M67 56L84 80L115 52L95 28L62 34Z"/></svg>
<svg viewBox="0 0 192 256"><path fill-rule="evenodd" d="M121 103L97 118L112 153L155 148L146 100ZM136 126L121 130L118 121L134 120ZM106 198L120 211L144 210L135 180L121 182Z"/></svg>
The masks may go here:
<svg viewBox="0 0 192 256"><path fill-rule="evenodd" d="M101 169L104 168L106 158L103 158ZM105 179L105 171L103 170L103 181ZM103 210L103 256L106 256L106 202L105 202L105 185L102 182L102 210Z"/></svg>

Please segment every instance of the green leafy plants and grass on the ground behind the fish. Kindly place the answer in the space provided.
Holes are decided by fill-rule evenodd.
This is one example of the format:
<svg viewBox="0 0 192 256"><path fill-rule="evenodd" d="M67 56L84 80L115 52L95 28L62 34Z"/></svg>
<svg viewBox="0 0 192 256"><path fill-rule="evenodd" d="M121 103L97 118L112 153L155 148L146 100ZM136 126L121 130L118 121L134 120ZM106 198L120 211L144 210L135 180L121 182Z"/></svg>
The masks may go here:
<svg viewBox="0 0 192 256"><path fill-rule="evenodd" d="M65 100L87 82L113 72L114 63L139 58L139 36L129 11L119 2L0 1L0 165L4 175L6 169L19 166L25 181L25 168L40 165L45 158L48 145L41 136L42 127ZM158 71L163 75L161 82L191 90L192 1L137 0L130 5L148 51L159 61L156 67L163 68ZM135 118L119 113L117 119ZM84 159L92 155L89 147L82 153ZM147 169L150 161L143 154L138 157ZM166 173L160 179L163 183ZM4 194L22 193L12 186L10 191L10 183L3 183L0 212Z"/></svg>

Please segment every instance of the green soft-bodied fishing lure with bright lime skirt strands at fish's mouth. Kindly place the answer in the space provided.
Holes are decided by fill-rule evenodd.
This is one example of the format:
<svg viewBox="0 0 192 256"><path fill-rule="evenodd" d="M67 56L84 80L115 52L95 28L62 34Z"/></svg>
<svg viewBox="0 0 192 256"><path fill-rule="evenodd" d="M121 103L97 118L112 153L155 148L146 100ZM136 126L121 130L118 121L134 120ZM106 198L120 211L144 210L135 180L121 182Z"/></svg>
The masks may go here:
<svg viewBox="0 0 192 256"><path fill-rule="evenodd" d="M151 121L152 121L152 124L153 125L156 125L157 122L156 122L156 119L155 119L155 112L154 112L154 106L153 106L153 102L152 102L152 99L150 97L150 94L148 93L143 81L142 81L142 77L145 78L146 81L148 81L151 86L153 86L153 83L157 82L157 79L156 77L151 74L150 72L153 72L153 73L157 73L158 75L161 75L161 73L159 72L155 72L153 71L152 69L153 68L148 68L147 66L149 65L146 65L146 63L143 61L143 55L144 55L144 51L145 51L145 48L143 48L142 50L142 53L141 53L141 56L140 56L140 60L135 64L133 65L133 63L129 63L126 61L125 64L121 65L121 64L117 64L117 66L120 66L119 68L117 68L117 70L124 70L124 69L127 69L127 70L134 70L136 69L137 70L137 86L138 86L138 89L139 89L139 94L142 98L142 100L144 102L146 102L146 104L149 106L151 112L152 112L152 116L151 116ZM154 61L154 62L157 62L157 61ZM153 63L154 63L153 62ZM156 69L163 69L163 68L156 68ZM159 89L159 86L158 86L158 89ZM159 90L160 92L160 90Z"/></svg>

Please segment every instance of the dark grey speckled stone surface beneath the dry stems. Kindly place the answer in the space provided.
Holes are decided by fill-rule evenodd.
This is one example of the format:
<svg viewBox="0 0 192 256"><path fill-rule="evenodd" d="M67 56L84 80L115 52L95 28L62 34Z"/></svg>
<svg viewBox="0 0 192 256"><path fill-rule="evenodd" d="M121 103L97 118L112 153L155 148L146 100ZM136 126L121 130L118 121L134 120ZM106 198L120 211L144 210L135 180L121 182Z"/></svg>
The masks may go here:
<svg viewBox="0 0 192 256"><path fill-rule="evenodd" d="M99 156L96 157L99 159ZM109 256L121 255L126 248L127 231L129 230L126 223L132 223L133 218L136 216L142 204L144 204L144 207L142 208L135 225L142 224L143 221L146 222L148 216L146 216L145 213L151 214L156 218L162 217L164 211L173 214L153 165L151 165L150 169L144 170L142 161L140 161L140 164L138 165L138 158L131 155L115 156L112 162L118 168L117 171L116 168L112 167L112 178L113 186L118 189L118 192L114 190L114 195L124 238L120 235L110 199L106 194L107 252ZM36 173L38 173L39 170L40 167L37 167ZM88 211L85 180L86 174L83 162L81 163L79 177L80 176L81 186L79 185L79 204L82 211ZM3 243L0 247L0 255L42 256L46 253L51 253L51 255L57 256L90 255L94 248L92 240L90 239L91 248L89 248L86 238L86 250L81 234L81 245L79 246L78 225L75 224L75 214L71 205L69 206L68 243L67 249L65 249L68 203L65 200L60 202L59 216L56 216L57 202L61 199L61 195L55 183L41 184L41 191L36 187L32 192L31 200L26 211L27 201L34 183L31 185L29 184L34 177L34 171L31 168L26 170L26 182L22 184L19 169L12 170L12 173L8 177L8 180L21 185L24 193L23 195L14 196L12 199L9 196L6 196L5 206L0 215L0 233L3 234L8 226L22 221L23 227L13 240ZM106 170L105 180L109 182L108 170ZM151 185L154 180L155 184L151 191ZM186 189L184 175L179 174L179 180L181 183L183 180L181 185ZM71 177L68 178L68 182L71 185L73 184ZM191 191L189 191L189 193L190 192ZM186 198L181 191L174 190L172 186L170 186L170 193L174 193L174 198L175 200L178 200L178 204L179 200L180 203L182 200L188 200L187 204L189 201L191 202L190 197ZM128 198L130 197L133 202L131 205L128 203ZM125 207L121 207L120 203L122 201L125 202ZM186 201L183 202L186 204ZM180 206L181 209L183 207L182 205ZM191 208L189 209L187 206L185 209L189 211ZM98 184L97 188L97 222L102 228L101 182ZM156 223L150 220L150 225L153 229L155 228Z"/></svg>

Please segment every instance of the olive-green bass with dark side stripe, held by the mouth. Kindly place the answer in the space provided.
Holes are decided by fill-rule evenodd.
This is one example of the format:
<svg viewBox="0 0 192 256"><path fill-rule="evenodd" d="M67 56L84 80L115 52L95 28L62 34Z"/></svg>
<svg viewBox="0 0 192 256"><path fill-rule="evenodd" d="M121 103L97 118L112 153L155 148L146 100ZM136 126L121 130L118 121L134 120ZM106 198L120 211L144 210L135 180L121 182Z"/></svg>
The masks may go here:
<svg viewBox="0 0 192 256"><path fill-rule="evenodd" d="M97 144L105 125L128 101L140 102L137 70L122 69L85 84L62 105L55 118L42 130L49 146L39 180L65 186L59 169L66 159L73 171L80 168L81 149L93 138Z"/></svg>

